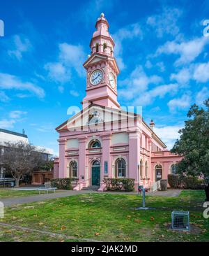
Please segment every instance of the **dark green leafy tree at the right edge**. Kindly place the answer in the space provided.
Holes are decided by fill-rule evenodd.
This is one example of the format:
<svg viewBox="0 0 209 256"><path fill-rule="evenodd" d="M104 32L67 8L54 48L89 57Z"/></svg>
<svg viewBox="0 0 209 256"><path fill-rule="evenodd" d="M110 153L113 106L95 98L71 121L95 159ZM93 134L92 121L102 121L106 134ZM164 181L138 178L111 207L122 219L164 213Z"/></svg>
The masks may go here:
<svg viewBox="0 0 209 256"><path fill-rule="evenodd" d="M206 180L206 201L209 201L209 99L204 108L192 105L187 113L189 120L178 133L171 152L183 156L177 171L189 176L203 176Z"/></svg>

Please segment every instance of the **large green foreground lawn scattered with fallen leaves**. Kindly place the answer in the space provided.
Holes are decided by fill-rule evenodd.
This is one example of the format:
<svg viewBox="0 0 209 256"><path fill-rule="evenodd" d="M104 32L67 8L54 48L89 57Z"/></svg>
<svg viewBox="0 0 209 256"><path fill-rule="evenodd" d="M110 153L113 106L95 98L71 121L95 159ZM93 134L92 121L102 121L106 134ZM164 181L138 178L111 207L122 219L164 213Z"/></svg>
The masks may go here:
<svg viewBox="0 0 209 256"><path fill-rule="evenodd" d="M6 208L11 225L30 227L98 241L209 241L209 222L203 218L203 191L185 190L179 197L146 197L146 206L155 209L136 211L141 196L129 194L79 194L22 206ZM168 228L171 211L190 212L192 232ZM1 225L0 225L1 230ZM9 229L10 230L10 229ZM1 234L1 233L0 233ZM19 235L15 235L16 239ZM24 239L24 234L20 235ZM12 239L10 233L0 241ZM23 237L23 238L22 238ZM29 234L26 241L49 241L50 237ZM59 239L52 239L52 241ZM16 241L14 239L14 241Z"/></svg>

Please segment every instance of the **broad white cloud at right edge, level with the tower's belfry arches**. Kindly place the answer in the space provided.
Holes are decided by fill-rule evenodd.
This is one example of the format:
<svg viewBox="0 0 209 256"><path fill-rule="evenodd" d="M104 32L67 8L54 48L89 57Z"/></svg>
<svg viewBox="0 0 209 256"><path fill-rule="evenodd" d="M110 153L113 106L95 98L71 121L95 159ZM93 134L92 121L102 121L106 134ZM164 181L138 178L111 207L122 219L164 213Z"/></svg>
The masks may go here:
<svg viewBox="0 0 209 256"><path fill-rule="evenodd" d="M174 63L176 66L182 64L188 64L189 62L194 61L196 57L198 57L201 52L203 52L204 46L208 43L208 38L194 38L190 41L168 41L164 45L157 48L156 55L160 55L162 53L170 55L180 55L180 57Z"/></svg>

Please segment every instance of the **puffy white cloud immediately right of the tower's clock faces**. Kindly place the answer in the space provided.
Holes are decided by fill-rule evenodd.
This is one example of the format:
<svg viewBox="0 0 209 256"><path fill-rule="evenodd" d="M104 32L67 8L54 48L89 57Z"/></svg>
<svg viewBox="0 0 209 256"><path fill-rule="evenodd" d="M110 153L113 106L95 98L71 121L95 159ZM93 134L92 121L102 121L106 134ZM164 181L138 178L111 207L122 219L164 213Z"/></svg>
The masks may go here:
<svg viewBox="0 0 209 256"><path fill-rule="evenodd" d="M132 100L139 94L147 90L149 84L158 84L162 82L160 76L147 76L142 66L137 66L130 74L130 78L121 81L123 89L120 90L119 95L126 100Z"/></svg>

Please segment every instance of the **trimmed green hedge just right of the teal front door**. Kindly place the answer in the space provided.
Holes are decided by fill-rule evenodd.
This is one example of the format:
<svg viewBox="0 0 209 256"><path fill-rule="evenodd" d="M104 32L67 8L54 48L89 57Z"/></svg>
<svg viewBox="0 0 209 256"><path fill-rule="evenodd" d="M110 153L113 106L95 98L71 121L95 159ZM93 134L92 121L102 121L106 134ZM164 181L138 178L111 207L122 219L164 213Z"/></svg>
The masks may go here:
<svg viewBox="0 0 209 256"><path fill-rule="evenodd" d="M104 183L107 190L112 191L133 191L134 190L134 178L105 178Z"/></svg>

